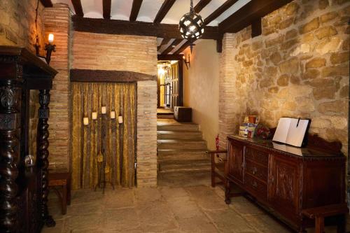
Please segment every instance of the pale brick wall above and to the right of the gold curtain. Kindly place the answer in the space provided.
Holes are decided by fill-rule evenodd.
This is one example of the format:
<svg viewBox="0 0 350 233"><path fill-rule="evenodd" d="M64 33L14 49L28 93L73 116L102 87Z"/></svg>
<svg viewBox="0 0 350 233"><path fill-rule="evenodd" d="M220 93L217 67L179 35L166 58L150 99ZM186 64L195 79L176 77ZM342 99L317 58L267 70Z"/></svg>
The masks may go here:
<svg viewBox="0 0 350 233"><path fill-rule="evenodd" d="M72 69L157 75L155 37L73 31ZM137 185L157 185L157 82L137 82Z"/></svg>

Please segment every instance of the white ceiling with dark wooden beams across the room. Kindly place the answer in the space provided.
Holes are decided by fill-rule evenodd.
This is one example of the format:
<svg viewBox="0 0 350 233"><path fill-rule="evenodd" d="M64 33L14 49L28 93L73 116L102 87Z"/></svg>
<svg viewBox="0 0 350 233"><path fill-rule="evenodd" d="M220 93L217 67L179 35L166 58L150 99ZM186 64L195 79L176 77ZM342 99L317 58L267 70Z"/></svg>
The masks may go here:
<svg viewBox="0 0 350 233"><path fill-rule="evenodd" d="M118 1L118 8L128 6L127 12L130 15L127 16L129 21L125 20L111 20L115 18L116 1L111 0L40 0L43 6L50 7L52 3L63 2L69 3L73 6L76 16L73 16L73 28L76 31L90 31L94 33L104 34L126 34L137 36L155 36L162 38L162 41L158 41L158 54L161 55L179 55L183 52L190 43L183 40L179 33L179 26L177 24L177 17L172 18L172 15L176 13L181 15L189 11L189 4L184 6L182 3L176 0L163 0L153 5L153 14L155 15L147 20L145 12L150 10L146 6L150 4L148 0L120 0ZM217 50L221 52L222 38L225 33L235 33L252 26L252 36L259 36L261 31L261 18L271 13L272 11L284 6L292 0L200 0L194 7L196 13L204 16L204 34L201 39L214 39L217 41ZM90 3L87 10L87 16L84 17L84 11L82 3ZM92 7L96 7L97 4L101 4L103 9L103 18L97 18L91 15ZM122 2L122 3L120 3ZM113 5L114 4L114 5ZM160 4L162 4L160 6ZM84 7L87 5L84 5ZM101 6L101 5L99 5ZM186 12L179 11L179 7ZM174 8L176 10L174 10ZM85 9L85 8L84 8ZM101 9L101 8L100 8ZM89 11L90 10L90 11ZM157 11L155 11L157 10ZM102 10L99 10L101 12ZM119 11L120 12L120 11ZM111 16L112 15L112 16ZM169 20L172 19L172 20ZM180 19L180 17L179 17ZM146 22L145 22L146 21ZM163 22L163 23L162 23ZM166 22L166 23L165 23ZM169 23L171 22L171 23ZM209 25L218 25L210 26ZM172 42L172 43L170 43Z"/></svg>

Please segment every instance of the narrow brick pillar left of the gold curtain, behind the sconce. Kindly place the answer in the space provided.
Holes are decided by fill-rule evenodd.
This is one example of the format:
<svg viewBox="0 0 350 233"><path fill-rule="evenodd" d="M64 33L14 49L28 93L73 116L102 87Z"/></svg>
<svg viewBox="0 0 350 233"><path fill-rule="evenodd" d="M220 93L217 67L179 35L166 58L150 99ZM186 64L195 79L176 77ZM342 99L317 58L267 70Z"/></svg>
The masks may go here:
<svg viewBox="0 0 350 233"><path fill-rule="evenodd" d="M55 4L43 10L45 38L55 35L56 52L52 52L50 66L58 71L53 80L50 101L50 167L69 168L70 106L69 106L69 34L68 6Z"/></svg>

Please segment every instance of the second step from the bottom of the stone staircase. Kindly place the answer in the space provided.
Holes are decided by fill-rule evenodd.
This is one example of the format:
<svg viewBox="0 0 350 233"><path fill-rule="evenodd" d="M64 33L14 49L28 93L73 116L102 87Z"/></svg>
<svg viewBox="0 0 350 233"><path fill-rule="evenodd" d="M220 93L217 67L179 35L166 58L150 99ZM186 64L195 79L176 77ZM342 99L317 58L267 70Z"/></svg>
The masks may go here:
<svg viewBox="0 0 350 233"><path fill-rule="evenodd" d="M211 169L209 160L183 160L176 162L160 162L158 166L160 173L183 171L209 171Z"/></svg>

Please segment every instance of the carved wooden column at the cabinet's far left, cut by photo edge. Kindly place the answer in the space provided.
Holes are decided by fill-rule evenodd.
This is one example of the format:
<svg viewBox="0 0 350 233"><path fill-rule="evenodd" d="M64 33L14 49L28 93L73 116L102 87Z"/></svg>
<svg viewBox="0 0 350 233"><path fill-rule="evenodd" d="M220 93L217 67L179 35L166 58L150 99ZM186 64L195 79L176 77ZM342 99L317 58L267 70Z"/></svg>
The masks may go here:
<svg viewBox="0 0 350 233"><path fill-rule="evenodd" d="M17 226L21 76L0 81L0 232L16 232Z"/></svg>

